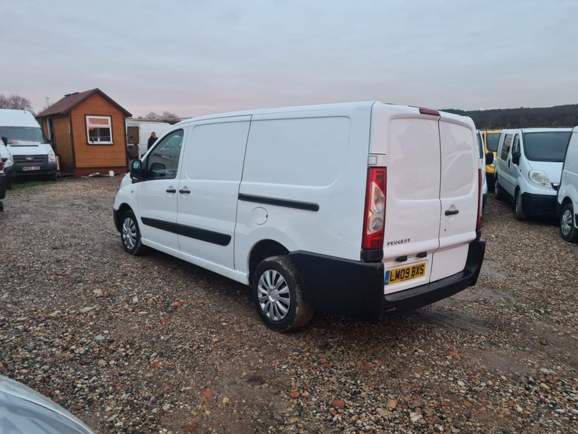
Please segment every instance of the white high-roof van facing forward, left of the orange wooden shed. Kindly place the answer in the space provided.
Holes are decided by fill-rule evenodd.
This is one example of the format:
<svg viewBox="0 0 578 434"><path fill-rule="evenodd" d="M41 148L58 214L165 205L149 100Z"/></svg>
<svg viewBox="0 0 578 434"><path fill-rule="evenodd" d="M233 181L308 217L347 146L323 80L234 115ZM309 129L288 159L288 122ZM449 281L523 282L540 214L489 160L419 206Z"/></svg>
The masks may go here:
<svg viewBox="0 0 578 434"><path fill-rule="evenodd" d="M56 178L56 156L27 110L0 109L0 138L12 154L14 174Z"/></svg>

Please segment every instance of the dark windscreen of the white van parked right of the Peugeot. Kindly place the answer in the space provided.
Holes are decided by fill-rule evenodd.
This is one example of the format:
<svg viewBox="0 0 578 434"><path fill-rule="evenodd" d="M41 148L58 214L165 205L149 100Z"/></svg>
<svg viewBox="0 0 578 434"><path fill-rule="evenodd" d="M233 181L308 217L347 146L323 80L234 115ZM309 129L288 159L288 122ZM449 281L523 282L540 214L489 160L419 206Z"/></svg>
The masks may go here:
<svg viewBox="0 0 578 434"><path fill-rule="evenodd" d="M524 155L530 161L562 163L571 131L524 133Z"/></svg>

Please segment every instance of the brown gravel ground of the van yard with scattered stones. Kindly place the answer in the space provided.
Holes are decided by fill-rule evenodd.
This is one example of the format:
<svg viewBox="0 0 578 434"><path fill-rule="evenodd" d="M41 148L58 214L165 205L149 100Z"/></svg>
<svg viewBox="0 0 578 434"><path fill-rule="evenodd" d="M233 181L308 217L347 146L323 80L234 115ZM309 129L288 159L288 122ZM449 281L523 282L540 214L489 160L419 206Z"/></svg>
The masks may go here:
<svg viewBox="0 0 578 434"><path fill-rule="evenodd" d="M120 178L9 192L0 374L99 433L578 432L578 245L488 198L478 284L380 323L279 334L249 290L124 253Z"/></svg>

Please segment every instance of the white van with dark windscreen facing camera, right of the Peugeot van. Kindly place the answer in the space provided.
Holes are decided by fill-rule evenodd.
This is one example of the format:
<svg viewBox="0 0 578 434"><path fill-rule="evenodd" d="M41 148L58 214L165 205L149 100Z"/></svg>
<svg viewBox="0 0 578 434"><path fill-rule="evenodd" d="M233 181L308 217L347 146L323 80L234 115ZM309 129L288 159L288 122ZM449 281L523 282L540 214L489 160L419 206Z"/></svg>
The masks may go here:
<svg viewBox="0 0 578 434"><path fill-rule="evenodd" d="M508 198L516 218L553 216L562 164L572 128L502 130L495 172L495 196Z"/></svg>

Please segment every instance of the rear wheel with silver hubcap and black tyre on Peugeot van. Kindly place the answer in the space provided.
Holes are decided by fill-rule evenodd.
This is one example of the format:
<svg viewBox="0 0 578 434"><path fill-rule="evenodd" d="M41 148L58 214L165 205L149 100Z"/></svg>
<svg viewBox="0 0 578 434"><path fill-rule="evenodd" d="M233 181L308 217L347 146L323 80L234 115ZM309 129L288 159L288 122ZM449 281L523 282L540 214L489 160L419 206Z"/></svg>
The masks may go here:
<svg viewBox="0 0 578 434"><path fill-rule="evenodd" d="M261 261L253 275L253 300L263 322L277 332L297 330L313 317L299 272L286 255Z"/></svg>

